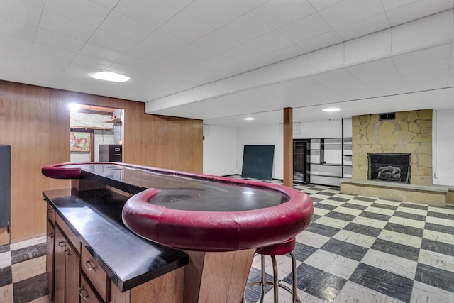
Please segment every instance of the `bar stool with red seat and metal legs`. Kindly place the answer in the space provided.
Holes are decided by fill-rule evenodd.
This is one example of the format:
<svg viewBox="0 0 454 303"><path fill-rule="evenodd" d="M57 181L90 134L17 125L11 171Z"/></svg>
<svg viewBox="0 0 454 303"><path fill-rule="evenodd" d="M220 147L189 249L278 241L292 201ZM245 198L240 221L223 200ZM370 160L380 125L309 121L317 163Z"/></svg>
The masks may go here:
<svg viewBox="0 0 454 303"><path fill-rule="evenodd" d="M255 285L260 285L262 287L262 293L260 295L260 303L263 302L263 298L265 297L265 285L273 285L273 294L274 294L274 302L278 303L279 302L279 291L278 287L282 287L284 290L287 290L287 292L292 294L292 299L293 302L298 302L301 303L299 300L299 297L297 296L297 260L295 259L295 255L293 253L293 250L295 248L295 243L296 240L295 238L291 238L287 241L284 241L282 243L277 243L272 246L266 246L264 248L258 248L256 253L260 254L261 258L261 263L262 263L262 273L260 276L260 281L257 282L251 282L248 285L246 285L244 294L243 294L243 303L245 303L245 293L246 290L248 290L249 287L253 287ZM276 263L276 255L285 255L289 254L290 257L292 257L292 290L287 287L286 285L283 285L279 283L278 277L277 277L277 263ZM271 262L272 262L272 272L273 272L273 281L265 281L265 255L270 255L271 257Z"/></svg>

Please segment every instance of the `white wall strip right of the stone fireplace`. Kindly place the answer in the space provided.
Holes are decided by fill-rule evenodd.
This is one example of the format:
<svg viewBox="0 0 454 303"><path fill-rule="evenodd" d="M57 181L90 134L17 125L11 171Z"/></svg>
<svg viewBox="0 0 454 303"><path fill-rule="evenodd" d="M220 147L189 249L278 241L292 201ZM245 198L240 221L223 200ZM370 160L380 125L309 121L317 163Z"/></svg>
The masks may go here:
<svg viewBox="0 0 454 303"><path fill-rule="evenodd" d="M454 186L454 109L433 111L433 184Z"/></svg>

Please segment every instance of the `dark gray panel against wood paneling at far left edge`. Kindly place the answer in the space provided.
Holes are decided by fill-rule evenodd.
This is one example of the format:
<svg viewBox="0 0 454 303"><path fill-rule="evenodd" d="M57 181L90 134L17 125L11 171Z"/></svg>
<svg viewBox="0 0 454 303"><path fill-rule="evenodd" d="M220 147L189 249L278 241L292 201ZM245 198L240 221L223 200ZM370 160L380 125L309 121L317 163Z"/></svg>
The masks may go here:
<svg viewBox="0 0 454 303"><path fill-rule="evenodd" d="M0 145L0 227L11 225L11 146Z"/></svg>

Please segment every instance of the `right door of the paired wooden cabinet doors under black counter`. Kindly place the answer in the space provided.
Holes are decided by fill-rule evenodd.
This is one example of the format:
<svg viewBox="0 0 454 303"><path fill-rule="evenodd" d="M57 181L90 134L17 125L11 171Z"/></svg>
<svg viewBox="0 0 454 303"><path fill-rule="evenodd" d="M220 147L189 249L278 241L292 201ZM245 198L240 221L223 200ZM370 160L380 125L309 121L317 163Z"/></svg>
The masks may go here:
<svg viewBox="0 0 454 303"><path fill-rule="evenodd" d="M79 303L80 256L70 243L65 248L65 303Z"/></svg>

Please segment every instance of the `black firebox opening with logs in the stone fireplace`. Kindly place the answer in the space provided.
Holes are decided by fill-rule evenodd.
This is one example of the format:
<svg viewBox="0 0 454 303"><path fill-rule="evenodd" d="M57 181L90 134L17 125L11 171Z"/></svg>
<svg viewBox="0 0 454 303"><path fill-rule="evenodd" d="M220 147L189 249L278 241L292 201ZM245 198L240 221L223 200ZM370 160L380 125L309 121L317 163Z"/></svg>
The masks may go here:
<svg viewBox="0 0 454 303"><path fill-rule="evenodd" d="M410 183L410 154L368 153L368 179Z"/></svg>

